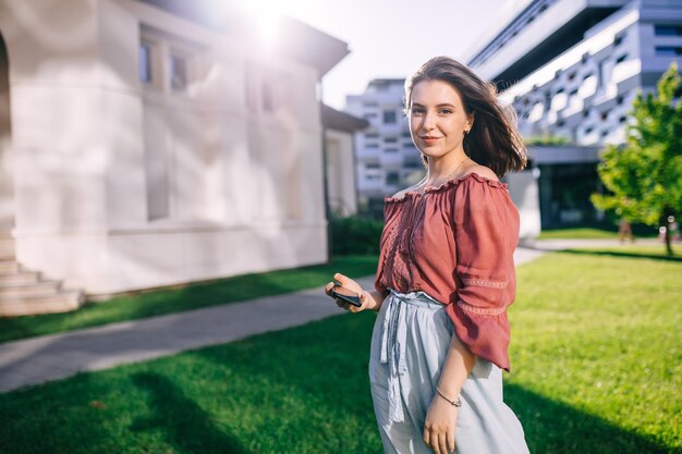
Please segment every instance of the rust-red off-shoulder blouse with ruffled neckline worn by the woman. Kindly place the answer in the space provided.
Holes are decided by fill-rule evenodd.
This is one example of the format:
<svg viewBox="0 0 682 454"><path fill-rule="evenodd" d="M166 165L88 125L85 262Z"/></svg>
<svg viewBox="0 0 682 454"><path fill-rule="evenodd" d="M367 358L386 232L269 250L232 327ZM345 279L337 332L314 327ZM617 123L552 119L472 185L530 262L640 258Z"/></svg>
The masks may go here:
<svg viewBox="0 0 682 454"><path fill-rule="evenodd" d="M468 349L509 371L519 242L509 185L470 173L423 194L386 196L383 218L376 291L422 291L447 305Z"/></svg>

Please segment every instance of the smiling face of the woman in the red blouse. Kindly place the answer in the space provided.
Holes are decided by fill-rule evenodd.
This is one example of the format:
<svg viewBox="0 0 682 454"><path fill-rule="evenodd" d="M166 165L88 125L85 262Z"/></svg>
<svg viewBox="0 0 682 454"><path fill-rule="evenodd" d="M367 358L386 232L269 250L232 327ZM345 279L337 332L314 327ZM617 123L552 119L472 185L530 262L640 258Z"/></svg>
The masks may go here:
<svg viewBox="0 0 682 454"><path fill-rule="evenodd" d="M422 81L412 89L410 131L416 147L438 158L463 150L464 131L473 125L459 91L443 81Z"/></svg>

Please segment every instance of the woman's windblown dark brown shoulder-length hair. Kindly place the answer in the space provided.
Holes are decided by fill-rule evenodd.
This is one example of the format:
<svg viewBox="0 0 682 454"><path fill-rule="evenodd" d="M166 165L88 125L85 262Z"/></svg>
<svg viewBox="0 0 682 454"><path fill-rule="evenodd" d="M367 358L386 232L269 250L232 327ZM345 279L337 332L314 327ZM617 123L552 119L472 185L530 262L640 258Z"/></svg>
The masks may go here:
<svg viewBox="0 0 682 454"><path fill-rule="evenodd" d="M442 81L454 87L474 125L464 136L464 151L498 177L520 171L527 164L526 147L516 128L516 113L497 99L497 87L484 82L472 70L449 57L435 57L405 81L405 114L412 107L412 89L423 81ZM422 154L424 165L428 157Z"/></svg>

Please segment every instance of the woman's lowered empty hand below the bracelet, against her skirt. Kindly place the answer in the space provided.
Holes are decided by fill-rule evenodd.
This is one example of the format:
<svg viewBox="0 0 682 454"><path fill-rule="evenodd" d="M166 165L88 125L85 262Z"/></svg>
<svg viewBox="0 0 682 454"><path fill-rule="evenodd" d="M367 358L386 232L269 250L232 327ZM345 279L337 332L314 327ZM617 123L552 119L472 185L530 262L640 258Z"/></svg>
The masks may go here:
<svg viewBox="0 0 682 454"><path fill-rule="evenodd" d="M460 408L436 394L426 412L424 443L436 454L454 451L454 429Z"/></svg>

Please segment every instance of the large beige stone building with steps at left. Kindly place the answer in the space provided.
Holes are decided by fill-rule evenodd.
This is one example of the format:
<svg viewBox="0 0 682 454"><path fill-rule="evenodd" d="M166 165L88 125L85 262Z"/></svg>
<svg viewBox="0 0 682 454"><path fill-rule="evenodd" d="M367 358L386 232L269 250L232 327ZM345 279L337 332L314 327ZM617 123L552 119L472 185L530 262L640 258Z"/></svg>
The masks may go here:
<svg viewBox="0 0 682 454"><path fill-rule="evenodd" d="M268 48L233 3L0 0L0 315L327 260L348 46L282 19Z"/></svg>

